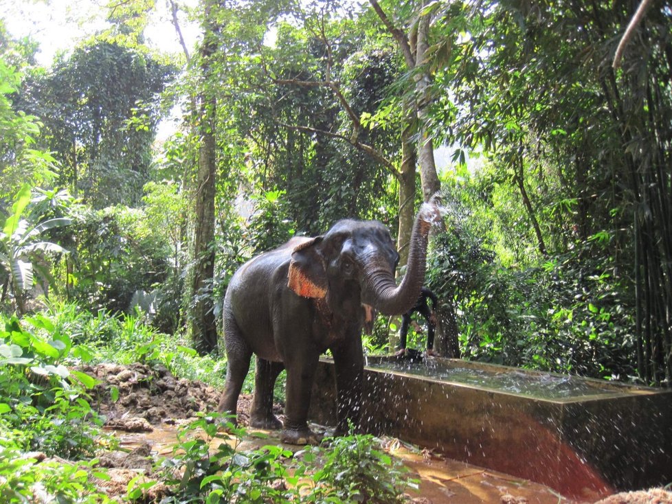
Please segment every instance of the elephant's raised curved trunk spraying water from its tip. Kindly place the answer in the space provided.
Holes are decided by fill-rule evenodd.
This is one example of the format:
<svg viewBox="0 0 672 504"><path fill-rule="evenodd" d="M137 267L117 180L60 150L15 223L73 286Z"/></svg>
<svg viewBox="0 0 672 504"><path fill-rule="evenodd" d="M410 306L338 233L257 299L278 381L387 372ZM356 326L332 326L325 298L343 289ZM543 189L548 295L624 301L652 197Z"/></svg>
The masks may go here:
<svg viewBox="0 0 672 504"><path fill-rule="evenodd" d="M374 297L374 307L385 315L407 312L418 300L425 282L429 228L440 221L440 211L434 200L424 203L416 216L408 251L406 273L399 286L387 271L372 272L368 279Z"/></svg>

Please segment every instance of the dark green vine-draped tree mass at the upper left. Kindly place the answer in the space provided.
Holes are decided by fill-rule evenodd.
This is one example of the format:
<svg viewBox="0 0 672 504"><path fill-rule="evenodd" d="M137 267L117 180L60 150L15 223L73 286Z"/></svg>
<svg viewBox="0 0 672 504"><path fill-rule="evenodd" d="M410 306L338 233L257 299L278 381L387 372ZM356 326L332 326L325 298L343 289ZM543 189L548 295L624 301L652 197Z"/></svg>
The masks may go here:
<svg viewBox="0 0 672 504"><path fill-rule="evenodd" d="M60 185L96 208L139 203L150 180L157 97L172 73L140 49L93 41L30 76L20 105L41 117L43 144L62 165Z"/></svg>

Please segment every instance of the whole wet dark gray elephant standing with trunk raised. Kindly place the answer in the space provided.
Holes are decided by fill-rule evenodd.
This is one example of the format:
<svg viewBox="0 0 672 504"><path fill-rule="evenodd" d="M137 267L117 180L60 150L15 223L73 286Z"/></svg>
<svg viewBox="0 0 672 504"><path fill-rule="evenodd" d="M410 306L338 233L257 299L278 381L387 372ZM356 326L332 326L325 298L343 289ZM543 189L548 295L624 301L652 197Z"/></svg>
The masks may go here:
<svg viewBox="0 0 672 504"><path fill-rule="evenodd" d="M341 220L324 236L292 238L240 267L224 299L228 358L219 410L236 404L257 356L250 425L281 428L291 444L315 443L307 419L320 354L331 350L337 379L337 433L359 423L363 354L361 329L373 312L401 314L418 299L425 278L427 233L440 219L423 205L411 238L407 273L396 286L399 262L390 232L377 221ZM284 426L273 415L273 385L287 369Z"/></svg>

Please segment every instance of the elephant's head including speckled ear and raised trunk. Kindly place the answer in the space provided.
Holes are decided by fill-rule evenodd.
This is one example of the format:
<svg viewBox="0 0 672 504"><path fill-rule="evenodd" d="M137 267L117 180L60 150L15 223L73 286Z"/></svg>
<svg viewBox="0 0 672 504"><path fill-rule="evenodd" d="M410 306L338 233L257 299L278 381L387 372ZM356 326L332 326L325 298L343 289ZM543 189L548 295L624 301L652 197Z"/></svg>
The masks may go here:
<svg viewBox="0 0 672 504"><path fill-rule="evenodd" d="M438 220L436 203L425 203L416 216L399 286L394 279L399 253L388 228L374 220L340 220L324 236L295 247L289 287L303 297L324 298L344 317L364 309L368 321L372 308L388 315L406 312L425 281L427 235Z"/></svg>

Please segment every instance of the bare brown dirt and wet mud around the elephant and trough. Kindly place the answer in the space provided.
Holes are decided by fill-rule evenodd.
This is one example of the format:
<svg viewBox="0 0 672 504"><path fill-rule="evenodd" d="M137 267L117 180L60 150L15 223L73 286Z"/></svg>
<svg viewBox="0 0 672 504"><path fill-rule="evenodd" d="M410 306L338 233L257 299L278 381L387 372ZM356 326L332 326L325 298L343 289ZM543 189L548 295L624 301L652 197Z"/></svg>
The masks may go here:
<svg viewBox="0 0 672 504"><path fill-rule="evenodd" d="M102 451L99 455L101 466L108 468L110 476L109 481L100 481L99 486L110 496L124 495L128 482L138 474L151 478L155 459L172 453L179 425L189 422L198 411L216 411L221 393L202 382L175 378L164 367L100 364L84 367L82 371L100 380L93 393L93 404L107 418L106 430L120 442L121 450ZM115 401L112 400L113 389L118 391ZM240 424L247 425L250 402L250 396L240 397ZM282 419L280 405L276 405L276 414ZM265 439L264 444L280 443L274 437L277 433L269 431L267 434L270 439ZM240 448L256 448L255 442L254 438L245 440ZM383 444L421 481L418 492L408 496L412 503L576 503L543 485L445 459L408 446L399 439L383 439ZM160 499L166 488L155 485L151 493ZM672 503L672 493L656 489L617 494L601 504L631 503Z"/></svg>

